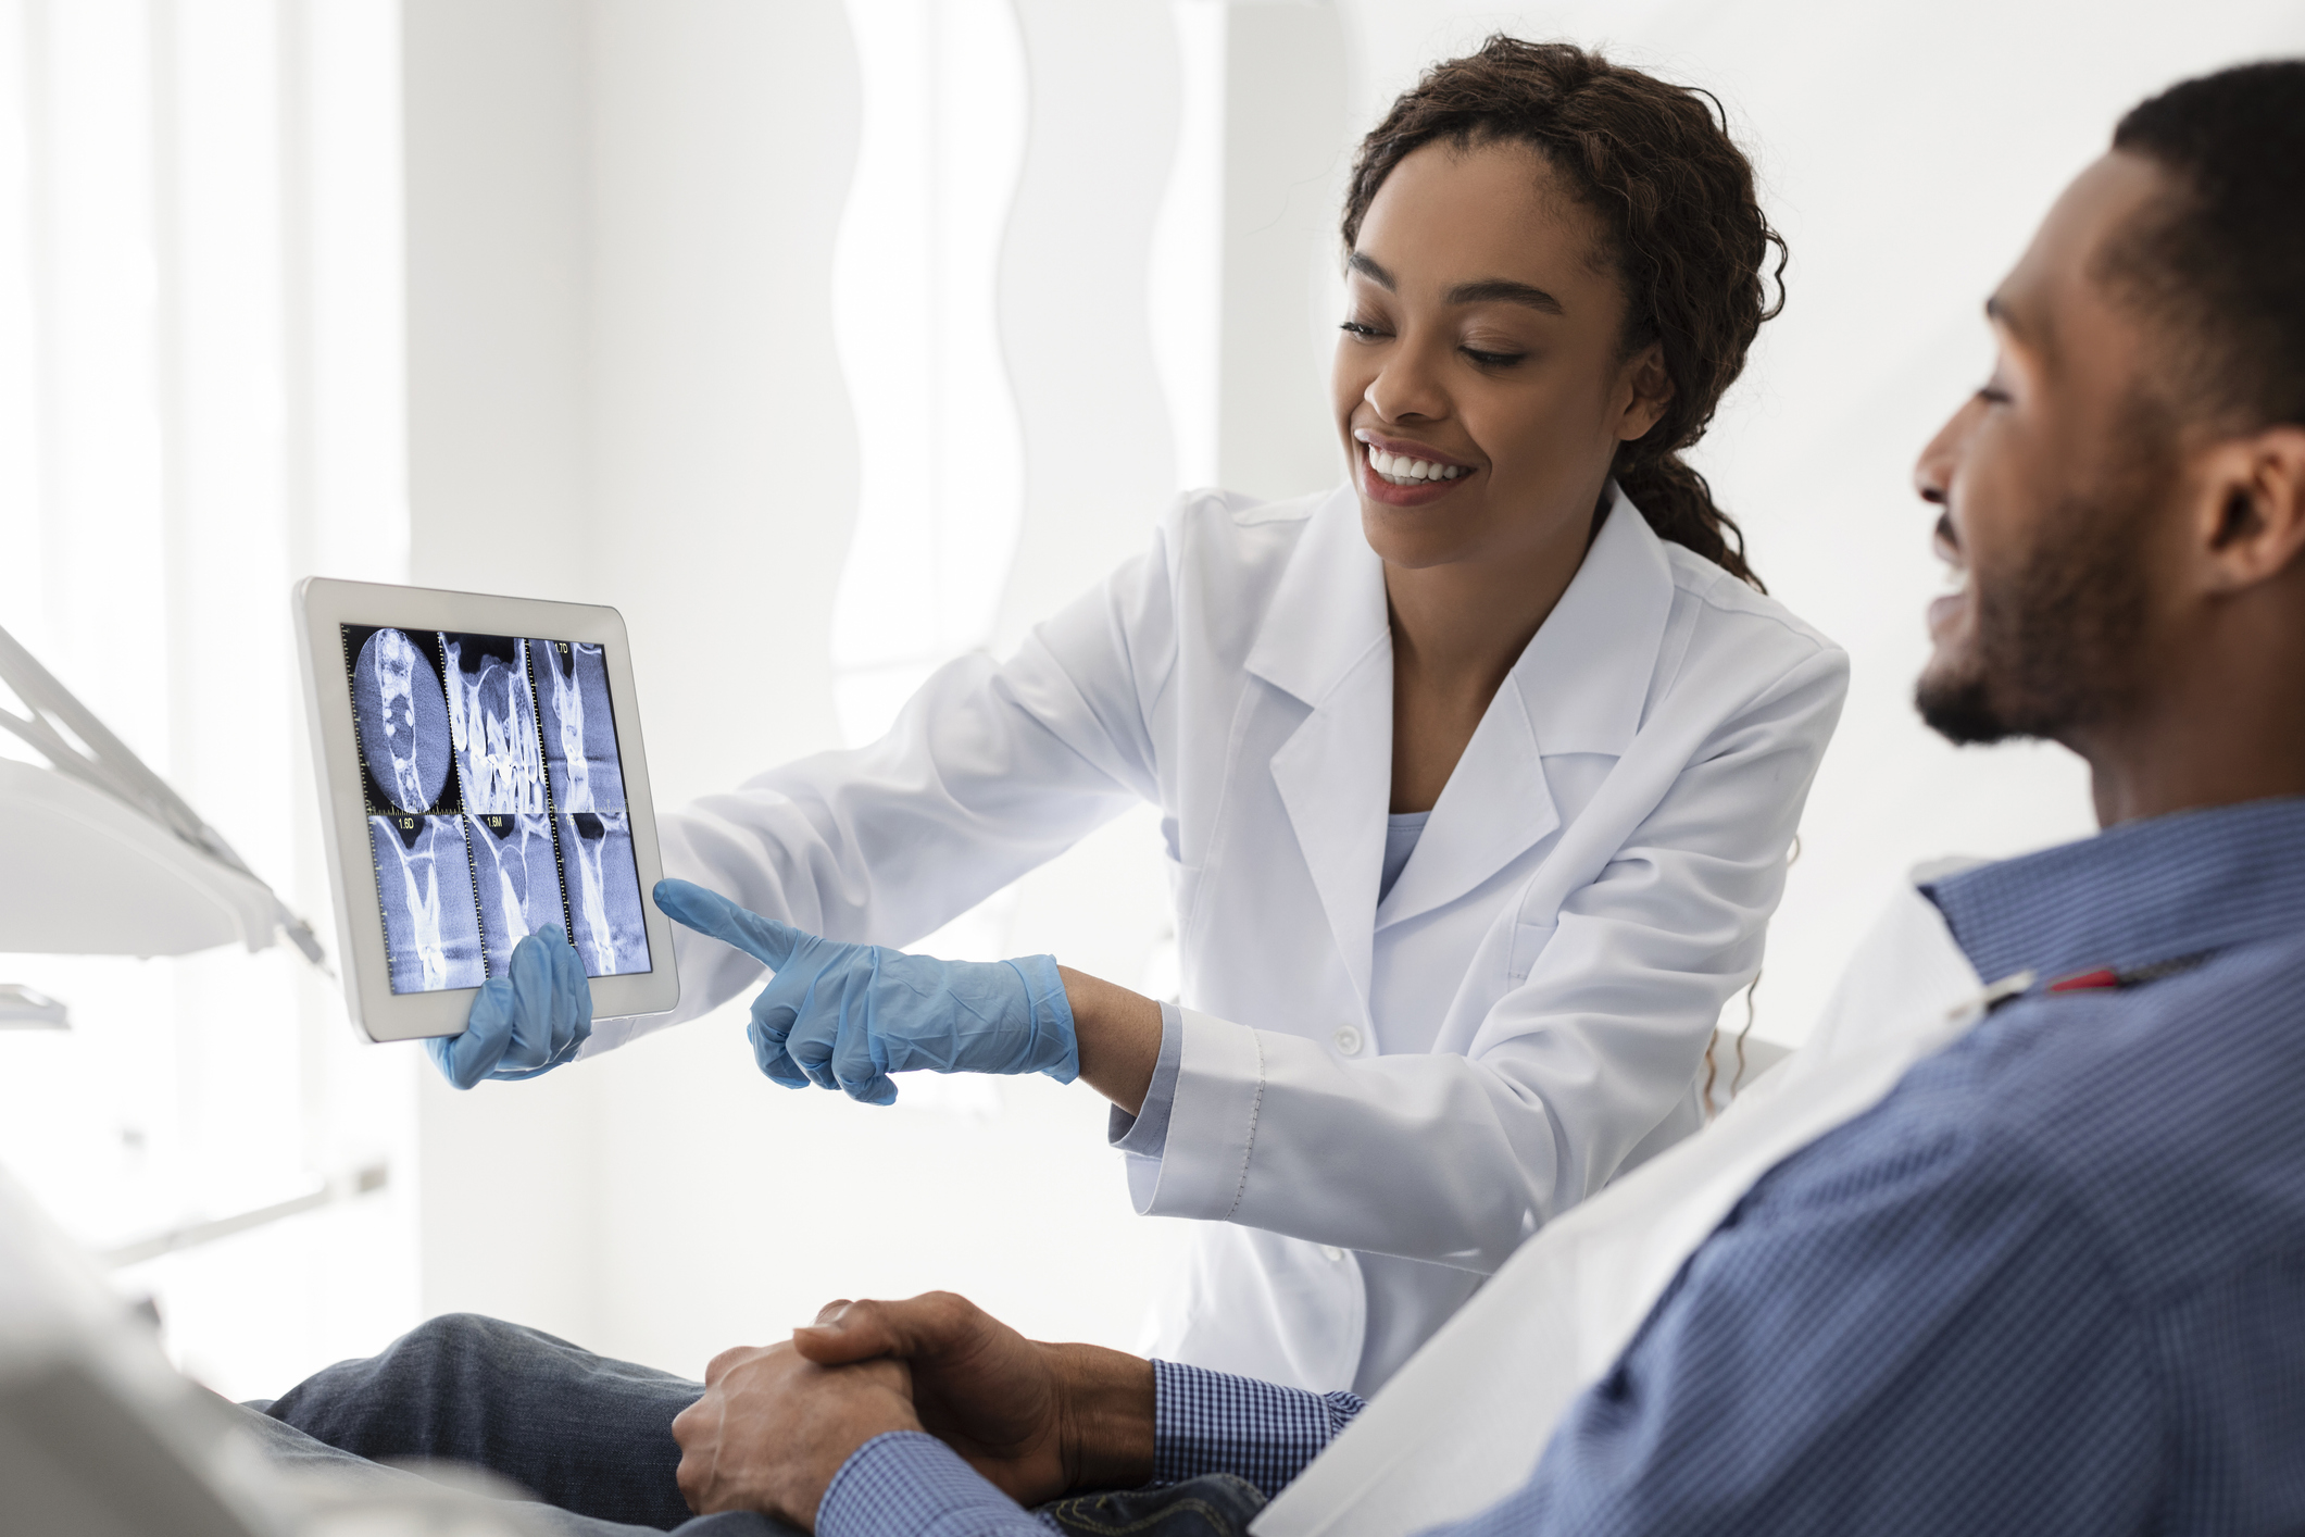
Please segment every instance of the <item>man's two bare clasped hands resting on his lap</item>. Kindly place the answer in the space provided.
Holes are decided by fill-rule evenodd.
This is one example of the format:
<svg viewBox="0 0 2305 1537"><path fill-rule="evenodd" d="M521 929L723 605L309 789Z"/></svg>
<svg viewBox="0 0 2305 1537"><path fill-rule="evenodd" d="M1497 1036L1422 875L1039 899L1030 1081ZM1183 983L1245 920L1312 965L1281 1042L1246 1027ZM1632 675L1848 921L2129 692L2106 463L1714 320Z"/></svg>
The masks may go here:
<svg viewBox="0 0 2305 1537"><path fill-rule="evenodd" d="M832 1302L765 1348L724 1350L673 1419L696 1514L756 1509L816 1530L857 1447L927 1431L1019 1505L1152 1479L1152 1362L1030 1341L952 1293Z"/></svg>

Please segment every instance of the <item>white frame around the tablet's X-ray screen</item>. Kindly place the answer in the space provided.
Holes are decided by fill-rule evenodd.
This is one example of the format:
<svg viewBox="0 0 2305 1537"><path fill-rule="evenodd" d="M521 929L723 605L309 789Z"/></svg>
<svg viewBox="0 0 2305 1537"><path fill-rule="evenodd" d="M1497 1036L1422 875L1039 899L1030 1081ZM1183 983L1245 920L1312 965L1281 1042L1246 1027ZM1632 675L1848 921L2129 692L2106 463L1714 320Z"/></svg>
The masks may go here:
<svg viewBox="0 0 2305 1537"><path fill-rule="evenodd" d="M369 802L360 777L360 742L353 733L353 694L343 684L343 624L583 641L602 648L609 666L609 710L615 719L615 751L622 760L625 807L632 816L632 862L641 876L641 917L648 926L652 970L627 977L592 977L592 1016L668 1014L680 1002L680 972L673 963L673 924L650 896L664 873L664 860L657 846L657 809L648 788L641 696L632 682L625 615L595 604L551 604L530 597L396 588L330 576L307 576L297 583L295 615L297 661L304 673L304 705L311 721L313 777L320 783L327 880L337 896L343 1005L353 1025L371 1042L459 1035L479 989L392 991L385 963L383 903L376 896L376 869L369 850Z"/></svg>

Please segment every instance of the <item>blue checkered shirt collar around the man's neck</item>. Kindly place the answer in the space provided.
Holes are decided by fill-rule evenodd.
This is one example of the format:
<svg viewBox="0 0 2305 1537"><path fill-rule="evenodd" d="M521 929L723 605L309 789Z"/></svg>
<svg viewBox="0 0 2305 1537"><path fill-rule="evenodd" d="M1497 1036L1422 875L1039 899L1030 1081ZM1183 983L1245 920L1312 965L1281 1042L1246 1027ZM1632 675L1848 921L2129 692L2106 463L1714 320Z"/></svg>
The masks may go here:
<svg viewBox="0 0 2305 1537"><path fill-rule="evenodd" d="M2305 929L2305 797L2123 823L1920 887L1980 977L2144 968Z"/></svg>

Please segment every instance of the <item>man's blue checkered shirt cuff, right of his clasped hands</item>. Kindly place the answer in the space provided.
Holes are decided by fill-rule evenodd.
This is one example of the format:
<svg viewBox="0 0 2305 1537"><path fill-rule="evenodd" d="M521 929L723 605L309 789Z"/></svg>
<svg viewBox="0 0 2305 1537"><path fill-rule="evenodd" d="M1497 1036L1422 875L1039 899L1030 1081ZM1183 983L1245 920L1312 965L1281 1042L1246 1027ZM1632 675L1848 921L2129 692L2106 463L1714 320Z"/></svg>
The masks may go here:
<svg viewBox="0 0 2305 1537"><path fill-rule="evenodd" d="M1152 1362L1152 1482L1233 1472L1270 1500L1337 1438L1362 1401L1229 1371Z"/></svg>

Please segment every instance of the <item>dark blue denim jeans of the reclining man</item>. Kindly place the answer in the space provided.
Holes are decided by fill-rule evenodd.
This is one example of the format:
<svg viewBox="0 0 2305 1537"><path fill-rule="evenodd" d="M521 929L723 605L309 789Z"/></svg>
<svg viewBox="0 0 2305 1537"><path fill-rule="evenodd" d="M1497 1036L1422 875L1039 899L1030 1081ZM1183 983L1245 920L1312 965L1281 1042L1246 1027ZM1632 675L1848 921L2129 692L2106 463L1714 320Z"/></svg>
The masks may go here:
<svg viewBox="0 0 2305 1537"><path fill-rule="evenodd" d="M692 1516L680 1498L673 1415L701 1383L611 1362L516 1323L445 1313L364 1362L337 1362L270 1403L242 1406L265 1449L295 1468L385 1491L449 1461L537 1498L556 1537L798 1537L749 1512ZM1072 1496L1042 1507L1074 1537L1242 1537L1263 1496L1217 1475L1166 1489Z"/></svg>

